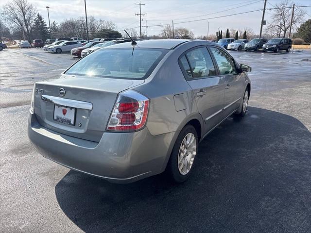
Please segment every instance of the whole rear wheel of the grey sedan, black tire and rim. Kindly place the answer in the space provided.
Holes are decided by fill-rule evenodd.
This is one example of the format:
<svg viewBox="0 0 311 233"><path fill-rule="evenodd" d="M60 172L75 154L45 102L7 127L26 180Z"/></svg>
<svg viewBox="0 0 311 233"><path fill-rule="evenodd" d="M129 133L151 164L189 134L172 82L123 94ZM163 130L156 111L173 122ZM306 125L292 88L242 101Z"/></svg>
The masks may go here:
<svg viewBox="0 0 311 233"><path fill-rule="evenodd" d="M199 140L195 128L192 125L186 125L176 139L166 167L167 175L174 183L182 183L189 178L195 164L194 160L198 153L198 145ZM184 151L186 151L186 154Z"/></svg>

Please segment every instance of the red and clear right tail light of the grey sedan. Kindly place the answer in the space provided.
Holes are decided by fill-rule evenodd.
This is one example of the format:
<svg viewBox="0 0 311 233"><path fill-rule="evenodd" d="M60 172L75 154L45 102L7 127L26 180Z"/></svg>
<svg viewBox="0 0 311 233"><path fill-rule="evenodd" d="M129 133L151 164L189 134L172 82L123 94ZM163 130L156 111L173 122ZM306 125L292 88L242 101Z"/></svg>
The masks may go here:
<svg viewBox="0 0 311 233"><path fill-rule="evenodd" d="M108 121L107 131L138 131L147 121L149 99L140 93L121 92Z"/></svg>

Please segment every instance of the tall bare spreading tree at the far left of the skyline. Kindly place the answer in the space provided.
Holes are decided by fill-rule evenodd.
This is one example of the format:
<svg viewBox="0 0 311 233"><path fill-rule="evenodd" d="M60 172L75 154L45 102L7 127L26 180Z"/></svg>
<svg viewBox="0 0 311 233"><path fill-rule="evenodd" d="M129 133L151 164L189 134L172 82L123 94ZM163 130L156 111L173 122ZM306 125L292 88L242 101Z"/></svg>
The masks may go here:
<svg viewBox="0 0 311 233"><path fill-rule="evenodd" d="M30 42L36 8L27 0L12 0L3 6L2 16L13 29L22 31ZM25 39L25 38L24 38Z"/></svg>

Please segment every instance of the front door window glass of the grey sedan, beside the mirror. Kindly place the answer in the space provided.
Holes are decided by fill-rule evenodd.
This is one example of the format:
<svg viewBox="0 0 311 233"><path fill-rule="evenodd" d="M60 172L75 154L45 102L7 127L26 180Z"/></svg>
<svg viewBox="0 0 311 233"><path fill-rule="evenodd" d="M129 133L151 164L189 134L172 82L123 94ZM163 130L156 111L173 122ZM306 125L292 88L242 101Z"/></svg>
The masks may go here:
<svg viewBox="0 0 311 233"><path fill-rule="evenodd" d="M215 57L221 75L236 74L234 60L229 54L215 47L211 47L210 50Z"/></svg>

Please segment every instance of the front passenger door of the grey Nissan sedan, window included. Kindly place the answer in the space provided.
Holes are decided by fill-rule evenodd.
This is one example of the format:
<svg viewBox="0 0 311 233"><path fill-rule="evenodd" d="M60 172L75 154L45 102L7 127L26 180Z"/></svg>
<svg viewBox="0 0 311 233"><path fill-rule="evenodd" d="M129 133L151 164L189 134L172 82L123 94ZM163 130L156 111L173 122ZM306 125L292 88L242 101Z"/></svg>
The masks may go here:
<svg viewBox="0 0 311 233"><path fill-rule="evenodd" d="M237 71L234 59L225 50L209 47L218 66L222 83L225 85L224 117L238 109L242 99L243 80Z"/></svg>

